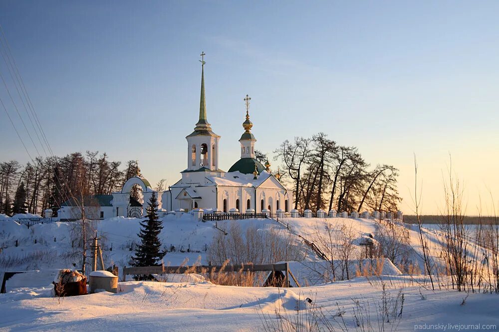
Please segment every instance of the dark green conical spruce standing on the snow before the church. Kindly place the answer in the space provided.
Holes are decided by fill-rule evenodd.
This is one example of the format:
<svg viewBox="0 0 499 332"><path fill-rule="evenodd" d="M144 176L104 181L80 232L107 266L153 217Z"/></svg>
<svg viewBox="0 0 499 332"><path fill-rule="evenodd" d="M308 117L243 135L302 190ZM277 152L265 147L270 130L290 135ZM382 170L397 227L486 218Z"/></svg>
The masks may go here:
<svg viewBox="0 0 499 332"><path fill-rule="evenodd" d="M156 193L151 195L147 206L147 220L140 223L140 233L138 234L141 243L135 250L135 256L132 257L132 265L135 267L142 266L159 266L165 253L161 251L161 242L159 234L163 229L162 221L158 218L158 200ZM151 280L151 275L138 275L135 280Z"/></svg>

